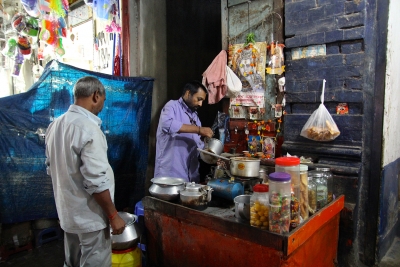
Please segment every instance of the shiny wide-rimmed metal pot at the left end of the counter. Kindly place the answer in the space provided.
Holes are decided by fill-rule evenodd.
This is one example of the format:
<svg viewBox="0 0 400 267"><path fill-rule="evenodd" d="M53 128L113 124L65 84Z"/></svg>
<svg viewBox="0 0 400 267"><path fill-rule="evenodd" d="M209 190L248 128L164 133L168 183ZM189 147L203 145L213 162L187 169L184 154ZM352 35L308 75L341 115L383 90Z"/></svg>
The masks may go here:
<svg viewBox="0 0 400 267"><path fill-rule="evenodd" d="M174 177L158 177L151 179L153 183L149 192L153 197L172 201L179 198L179 191L185 187L186 180Z"/></svg>

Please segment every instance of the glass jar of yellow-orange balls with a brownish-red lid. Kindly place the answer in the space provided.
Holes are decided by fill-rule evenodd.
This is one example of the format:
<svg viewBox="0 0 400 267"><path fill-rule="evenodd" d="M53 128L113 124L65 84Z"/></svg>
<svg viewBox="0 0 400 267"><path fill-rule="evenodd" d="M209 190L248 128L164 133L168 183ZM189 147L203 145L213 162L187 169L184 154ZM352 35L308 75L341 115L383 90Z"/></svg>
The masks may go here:
<svg viewBox="0 0 400 267"><path fill-rule="evenodd" d="M253 186L253 194L250 198L250 225L268 230L269 187L266 184Z"/></svg>

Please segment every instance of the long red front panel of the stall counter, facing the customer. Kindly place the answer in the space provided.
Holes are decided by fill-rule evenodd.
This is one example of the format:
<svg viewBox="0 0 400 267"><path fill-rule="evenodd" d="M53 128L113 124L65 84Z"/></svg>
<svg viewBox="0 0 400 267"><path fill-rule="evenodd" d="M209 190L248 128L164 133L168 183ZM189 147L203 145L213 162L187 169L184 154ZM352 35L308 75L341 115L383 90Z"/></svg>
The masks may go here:
<svg viewBox="0 0 400 267"><path fill-rule="evenodd" d="M186 220L145 212L149 266L281 266L282 252L199 226Z"/></svg>

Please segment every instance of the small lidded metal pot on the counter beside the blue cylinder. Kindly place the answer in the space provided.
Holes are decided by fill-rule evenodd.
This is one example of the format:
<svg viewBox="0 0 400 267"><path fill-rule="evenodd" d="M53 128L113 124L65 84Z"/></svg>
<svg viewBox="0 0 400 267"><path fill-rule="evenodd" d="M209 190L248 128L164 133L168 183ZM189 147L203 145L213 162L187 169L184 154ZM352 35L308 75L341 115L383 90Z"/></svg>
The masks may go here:
<svg viewBox="0 0 400 267"><path fill-rule="evenodd" d="M185 188L180 191L181 203L194 209L206 209L208 202L211 201L212 191L213 189L208 185L186 183Z"/></svg>

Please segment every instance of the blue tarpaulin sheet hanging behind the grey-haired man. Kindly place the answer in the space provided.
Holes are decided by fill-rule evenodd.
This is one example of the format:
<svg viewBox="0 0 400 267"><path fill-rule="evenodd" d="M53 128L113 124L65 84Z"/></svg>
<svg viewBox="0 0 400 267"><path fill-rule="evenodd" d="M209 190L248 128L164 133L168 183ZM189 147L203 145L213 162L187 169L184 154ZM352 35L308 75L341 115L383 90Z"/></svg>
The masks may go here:
<svg viewBox="0 0 400 267"><path fill-rule="evenodd" d="M97 77L106 88L99 117L115 175L116 207L133 209L144 196L154 79L116 77L52 61L27 92L0 98L1 223L57 218L44 164L44 133L74 102L73 87L84 76Z"/></svg>

